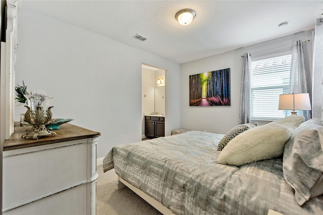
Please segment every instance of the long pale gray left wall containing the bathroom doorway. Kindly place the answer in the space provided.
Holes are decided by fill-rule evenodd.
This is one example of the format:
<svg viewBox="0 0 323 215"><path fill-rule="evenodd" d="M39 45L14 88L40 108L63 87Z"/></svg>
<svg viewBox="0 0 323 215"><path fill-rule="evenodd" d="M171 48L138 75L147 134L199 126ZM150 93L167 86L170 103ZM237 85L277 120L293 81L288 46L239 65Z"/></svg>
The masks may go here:
<svg viewBox="0 0 323 215"><path fill-rule="evenodd" d="M97 157L118 144L141 140L141 64L168 70L166 135L180 127L180 66L21 8L16 84L55 98L53 118L101 132ZM168 93L172 92L172 93ZM177 93L173 93L177 92ZM16 106L15 121L24 113Z"/></svg>

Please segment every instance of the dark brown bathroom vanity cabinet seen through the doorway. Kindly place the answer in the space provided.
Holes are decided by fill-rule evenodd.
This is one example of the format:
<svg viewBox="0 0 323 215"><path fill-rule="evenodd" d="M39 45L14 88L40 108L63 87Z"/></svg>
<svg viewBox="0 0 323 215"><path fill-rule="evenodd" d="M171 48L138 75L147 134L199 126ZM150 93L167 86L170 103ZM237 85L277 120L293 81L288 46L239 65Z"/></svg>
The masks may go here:
<svg viewBox="0 0 323 215"><path fill-rule="evenodd" d="M148 138L165 137L165 117L145 116L145 135Z"/></svg>

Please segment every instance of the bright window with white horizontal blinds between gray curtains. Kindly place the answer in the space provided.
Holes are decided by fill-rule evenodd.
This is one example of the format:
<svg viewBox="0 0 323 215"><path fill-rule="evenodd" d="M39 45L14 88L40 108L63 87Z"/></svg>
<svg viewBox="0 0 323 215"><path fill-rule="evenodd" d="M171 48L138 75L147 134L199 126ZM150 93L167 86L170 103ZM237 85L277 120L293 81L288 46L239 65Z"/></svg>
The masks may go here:
<svg viewBox="0 0 323 215"><path fill-rule="evenodd" d="M276 120L285 117L278 110L279 95L289 92L292 55L252 62L251 120Z"/></svg>

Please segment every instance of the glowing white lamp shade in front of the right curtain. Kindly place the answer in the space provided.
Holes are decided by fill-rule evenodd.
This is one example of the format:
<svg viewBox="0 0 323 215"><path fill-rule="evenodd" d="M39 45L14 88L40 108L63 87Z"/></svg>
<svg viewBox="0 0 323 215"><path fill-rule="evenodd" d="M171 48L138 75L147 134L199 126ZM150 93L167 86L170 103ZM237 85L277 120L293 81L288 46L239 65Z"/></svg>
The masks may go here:
<svg viewBox="0 0 323 215"><path fill-rule="evenodd" d="M278 110L311 110L308 93L279 95Z"/></svg>

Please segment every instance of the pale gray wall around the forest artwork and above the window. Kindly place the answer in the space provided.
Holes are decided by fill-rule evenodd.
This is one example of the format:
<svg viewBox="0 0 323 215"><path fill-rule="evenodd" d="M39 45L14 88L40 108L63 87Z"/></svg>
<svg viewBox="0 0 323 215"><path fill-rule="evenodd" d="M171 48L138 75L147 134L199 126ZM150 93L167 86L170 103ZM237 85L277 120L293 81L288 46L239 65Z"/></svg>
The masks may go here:
<svg viewBox="0 0 323 215"><path fill-rule="evenodd" d="M276 47L293 44L295 40L311 40L303 43L305 55L312 62L312 31L300 32L252 46L228 51L196 61L181 64L181 127L185 129L209 131L213 133L226 133L239 122L239 102L243 58L245 52L256 53ZM286 49L292 49L288 46ZM283 49L266 51L252 55L253 58L269 55ZM311 63L308 65L310 71ZM231 106L189 106L189 76L214 70L231 68Z"/></svg>

